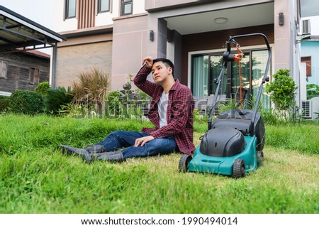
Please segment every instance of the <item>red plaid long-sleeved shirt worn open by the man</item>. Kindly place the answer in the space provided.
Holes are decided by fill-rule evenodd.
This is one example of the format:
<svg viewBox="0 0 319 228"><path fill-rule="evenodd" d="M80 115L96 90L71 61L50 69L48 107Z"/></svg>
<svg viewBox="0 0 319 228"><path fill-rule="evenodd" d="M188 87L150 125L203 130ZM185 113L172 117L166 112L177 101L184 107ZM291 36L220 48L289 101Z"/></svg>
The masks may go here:
<svg viewBox="0 0 319 228"><path fill-rule="evenodd" d="M143 132L149 133L155 139L173 136L179 151L192 154L195 150L193 143L193 111L194 98L191 89L181 85L176 80L171 89L169 89L169 103L167 106L167 125L159 128L159 114L157 102L162 96L163 87L155 82L147 80L151 69L144 65L136 77L134 83L143 92L152 97L148 118L155 125L155 129L143 128Z"/></svg>

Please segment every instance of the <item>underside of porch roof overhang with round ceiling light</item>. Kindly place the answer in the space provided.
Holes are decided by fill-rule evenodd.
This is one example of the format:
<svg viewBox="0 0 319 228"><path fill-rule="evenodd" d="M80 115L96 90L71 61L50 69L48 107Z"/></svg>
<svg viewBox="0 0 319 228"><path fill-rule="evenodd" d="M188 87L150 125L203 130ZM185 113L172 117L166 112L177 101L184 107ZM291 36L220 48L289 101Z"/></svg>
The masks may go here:
<svg viewBox="0 0 319 228"><path fill-rule="evenodd" d="M240 1L236 1L240 4ZM205 5L203 5L205 6ZM218 8L214 3L208 4L206 11L186 13L177 16L164 16L167 27L181 35L220 31L233 28L262 26L274 23L274 2L264 1L260 4L246 4ZM217 21L223 19L225 21Z"/></svg>

